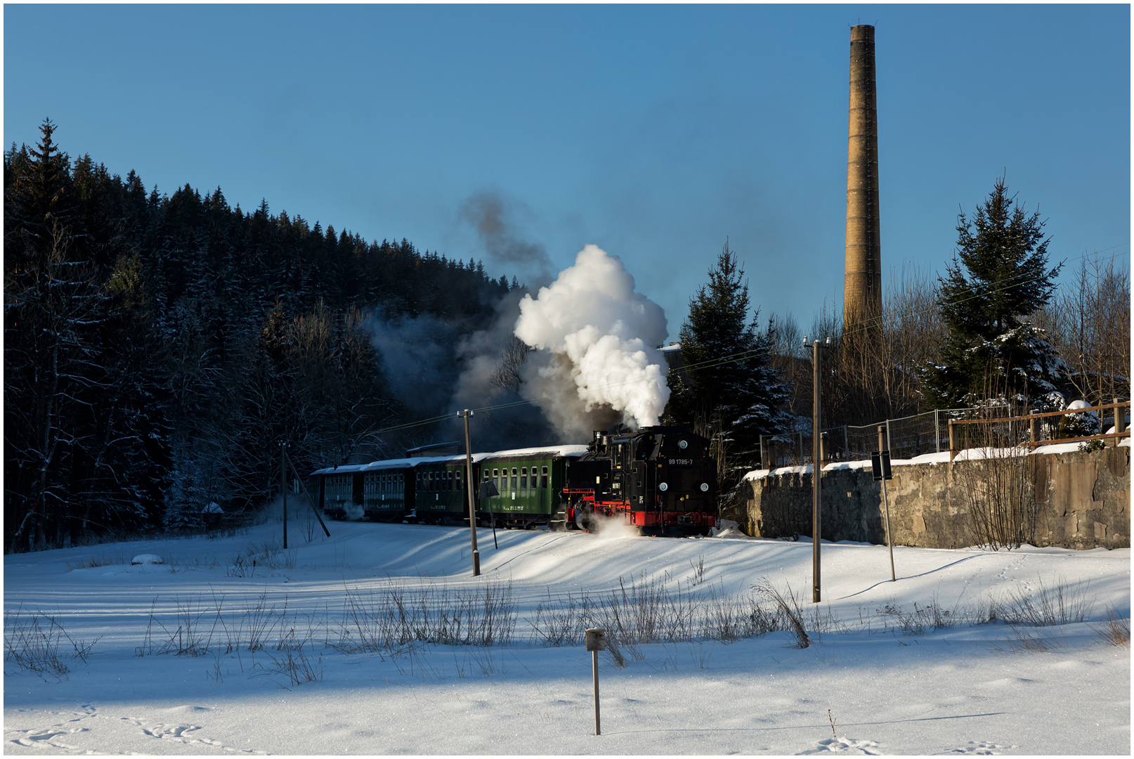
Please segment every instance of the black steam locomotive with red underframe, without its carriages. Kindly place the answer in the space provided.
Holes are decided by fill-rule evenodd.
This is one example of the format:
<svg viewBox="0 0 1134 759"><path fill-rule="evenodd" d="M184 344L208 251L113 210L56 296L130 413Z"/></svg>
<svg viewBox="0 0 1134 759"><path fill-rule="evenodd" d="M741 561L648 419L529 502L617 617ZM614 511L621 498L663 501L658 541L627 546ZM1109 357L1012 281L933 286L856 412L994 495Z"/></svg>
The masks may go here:
<svg viewBox="0 0 1134 759"><path fill-rule="evenodd" d="M596 431L587 453L570 462L562 497L566 521L583 529L602 515L642 534L703 534L717 523L709 440L684 427Z"/></svg>

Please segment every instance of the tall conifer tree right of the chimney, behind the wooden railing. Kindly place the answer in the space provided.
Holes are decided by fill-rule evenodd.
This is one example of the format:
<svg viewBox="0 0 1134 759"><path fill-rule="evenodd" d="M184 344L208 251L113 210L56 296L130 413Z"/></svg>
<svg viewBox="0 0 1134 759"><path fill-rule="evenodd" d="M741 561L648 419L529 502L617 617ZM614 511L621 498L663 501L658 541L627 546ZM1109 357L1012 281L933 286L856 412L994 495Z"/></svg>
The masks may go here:
<svg viewBox="0 0 1134 759"><path fill-rule="evenodd" d="M997 180L972 220L957 217L956 258L939 278L938 306L949 336L941 363L923 370L930 408L982 400L1055 405L1055 348L1027 319L1055 290L1063 264L1048 269L1049 238L1039 212L1031 216Z"/></svg>

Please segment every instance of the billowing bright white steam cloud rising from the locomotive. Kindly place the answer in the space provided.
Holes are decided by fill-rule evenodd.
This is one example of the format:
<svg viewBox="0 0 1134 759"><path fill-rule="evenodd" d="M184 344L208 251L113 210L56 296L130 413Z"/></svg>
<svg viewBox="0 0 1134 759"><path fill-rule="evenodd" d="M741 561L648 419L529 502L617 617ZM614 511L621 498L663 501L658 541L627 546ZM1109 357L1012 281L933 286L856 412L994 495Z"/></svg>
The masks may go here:
<svg viewBox="0 0 1134 759"><path fill-rule="evenodd" d="M666 313L634 292L618 256L584 247L535 298L524 296L515 334L547 352L534 365L530 356L522 391L564 435L589 435L610 410L632 427L659 422L669 387L654 346L668 334Z"/></svg>

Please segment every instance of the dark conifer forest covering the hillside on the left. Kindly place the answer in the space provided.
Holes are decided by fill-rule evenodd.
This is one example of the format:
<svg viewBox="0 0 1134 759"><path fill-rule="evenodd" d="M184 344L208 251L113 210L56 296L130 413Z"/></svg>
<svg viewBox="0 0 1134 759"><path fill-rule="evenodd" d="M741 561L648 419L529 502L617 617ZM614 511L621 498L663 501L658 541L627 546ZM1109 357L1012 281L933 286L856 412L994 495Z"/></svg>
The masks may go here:
<svg viewBox="0 0 1134 759"><path fill-rule="evenodd" d="M255 508L282 439L301 472L397 454L364 310L471 328L509 290L220 188L147 192L53 130L5 153L6 550Z"/></svg>

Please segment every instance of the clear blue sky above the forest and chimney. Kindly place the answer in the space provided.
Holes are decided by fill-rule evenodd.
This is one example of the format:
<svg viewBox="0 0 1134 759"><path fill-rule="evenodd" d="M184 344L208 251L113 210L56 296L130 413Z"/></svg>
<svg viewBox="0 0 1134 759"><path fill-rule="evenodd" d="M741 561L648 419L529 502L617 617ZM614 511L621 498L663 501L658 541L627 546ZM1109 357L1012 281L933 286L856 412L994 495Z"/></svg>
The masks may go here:
<svg viewBox="0 0 1134 759"><path fill-rule="evenodd" d="M728 236L767 317L841 306L849 26L877 27L883 271L951 259L995 179L1052 258L1129 251L1122 6L12 6L5 144L220 186L494 262L503 202L552 271L620 256L676 339ZM883 279L886 276L883 275ZM885 281L883 281L885 286Z"/></svg>

